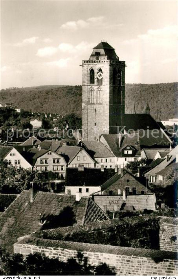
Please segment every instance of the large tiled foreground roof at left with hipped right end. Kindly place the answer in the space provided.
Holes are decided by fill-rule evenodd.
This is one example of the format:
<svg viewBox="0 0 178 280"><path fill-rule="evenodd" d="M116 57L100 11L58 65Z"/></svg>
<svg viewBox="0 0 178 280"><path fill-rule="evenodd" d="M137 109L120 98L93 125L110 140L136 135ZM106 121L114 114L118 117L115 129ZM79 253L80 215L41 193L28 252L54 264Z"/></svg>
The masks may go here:
<svg viewBox="0 0 178 280"><path fill-rule="evenodd" d="M12 252L18 237L44 229L46 225L55 227L54 219L67 206L79 225L108 220L108 216L89 197L76 202L73 195L38 192L31 203L30 191L24 190L0 216L0 246ZM40 224L40 213L42 220L46 220L44 224Z"/></svg>

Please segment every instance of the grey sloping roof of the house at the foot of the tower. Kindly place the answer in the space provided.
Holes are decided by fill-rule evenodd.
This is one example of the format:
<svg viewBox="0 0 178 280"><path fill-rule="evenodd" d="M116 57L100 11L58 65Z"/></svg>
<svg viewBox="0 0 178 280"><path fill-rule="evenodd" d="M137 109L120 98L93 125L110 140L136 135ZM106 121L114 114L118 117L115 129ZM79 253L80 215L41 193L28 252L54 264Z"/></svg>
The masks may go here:
<svg viewBox="0 0 178 280"><path fill-rule="evenodd" d="M80 146L83 147L83 145L86 148L87 153L89 153L94 158L114 157L113 153L111 153L111 151L99 141L83 140L80 142Z"/></svg>

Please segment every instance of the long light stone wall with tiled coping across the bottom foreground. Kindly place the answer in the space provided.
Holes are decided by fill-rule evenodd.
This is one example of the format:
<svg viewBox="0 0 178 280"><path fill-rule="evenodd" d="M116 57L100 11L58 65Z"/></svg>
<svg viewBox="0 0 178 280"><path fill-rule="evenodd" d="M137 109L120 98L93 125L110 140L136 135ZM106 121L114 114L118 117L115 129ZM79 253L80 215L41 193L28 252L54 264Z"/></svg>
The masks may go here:
<svg viewBox="0 0 178 280"><path fill-rule="evenodd" d="M28 255L39 252L66 262L68 258L77 258L80 251L88 258L89 264L105 262L115 267L117 275L177 275L178 262L174 252L45 239L24 242L21 239L14 244L14 253Z"/></svg>

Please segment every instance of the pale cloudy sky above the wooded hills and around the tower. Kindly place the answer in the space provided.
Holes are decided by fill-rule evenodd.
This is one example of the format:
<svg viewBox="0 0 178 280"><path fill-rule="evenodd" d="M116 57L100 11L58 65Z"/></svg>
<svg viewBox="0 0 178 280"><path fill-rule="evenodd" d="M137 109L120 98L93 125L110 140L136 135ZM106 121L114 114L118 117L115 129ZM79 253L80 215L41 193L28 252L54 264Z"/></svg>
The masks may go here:
<svg viewBox="0 0 178 280"><path fill-rule="evenodd" d="M81 85L107 41L126 83L177 81L177 1L1 1L0 87Z"/></svg>

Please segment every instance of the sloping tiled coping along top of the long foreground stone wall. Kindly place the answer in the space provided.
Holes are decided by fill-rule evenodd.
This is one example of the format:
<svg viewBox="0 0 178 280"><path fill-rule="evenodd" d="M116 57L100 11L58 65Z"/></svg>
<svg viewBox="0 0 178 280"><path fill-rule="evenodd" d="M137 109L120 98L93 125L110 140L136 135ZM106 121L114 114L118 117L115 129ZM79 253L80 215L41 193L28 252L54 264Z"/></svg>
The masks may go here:
<svg viewBox="0 0 178 280"><path fill-rule="evenodd" d="M59 241L59 240L48 240L48 239L34 239L28 240L30 245L50 247L50 248L63 248L68 250L73 250L76 252L95 252L95 253L106 253L121 256L137 256L145 258L161 258L165 260L177 260L177 253L170 251L160 251L152 249L141 249L141 248L130 248L130 247L120 247L112 245L103 244L90 244L90 243L80 243L72 241ZM25 239L22 239L18 243L25 243Z"/></svg>

